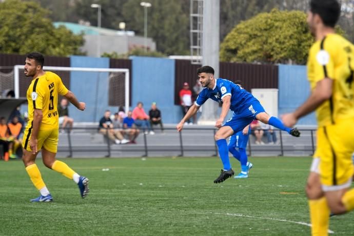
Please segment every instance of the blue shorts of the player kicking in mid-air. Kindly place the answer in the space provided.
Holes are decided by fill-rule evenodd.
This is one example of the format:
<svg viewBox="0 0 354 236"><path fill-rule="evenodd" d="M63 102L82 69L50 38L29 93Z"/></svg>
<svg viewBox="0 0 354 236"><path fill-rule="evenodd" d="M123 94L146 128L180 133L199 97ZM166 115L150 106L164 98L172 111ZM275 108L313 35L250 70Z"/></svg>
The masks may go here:
<svg viewBox="0 0 354 236"><path fill-rule="evenodd" d="M234 133L242 131L249 125L258 113L265 112L259 101L254 101L239 114L234 114L223 126L230 126Z"/></svg>

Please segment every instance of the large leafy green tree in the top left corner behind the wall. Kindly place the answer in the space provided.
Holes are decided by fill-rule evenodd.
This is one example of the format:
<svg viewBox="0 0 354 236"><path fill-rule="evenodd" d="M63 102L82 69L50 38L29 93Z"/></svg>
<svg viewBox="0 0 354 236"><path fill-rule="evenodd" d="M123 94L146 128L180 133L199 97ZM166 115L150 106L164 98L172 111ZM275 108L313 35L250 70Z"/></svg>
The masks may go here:
<svg viewBox="0 0 354 236"><path fill-rule="evenodd" d="M0 3L0 52L45 55L82 54L82 35L74 35L65 27L54 28L50 12L34 2L7 0Z"/></svg>

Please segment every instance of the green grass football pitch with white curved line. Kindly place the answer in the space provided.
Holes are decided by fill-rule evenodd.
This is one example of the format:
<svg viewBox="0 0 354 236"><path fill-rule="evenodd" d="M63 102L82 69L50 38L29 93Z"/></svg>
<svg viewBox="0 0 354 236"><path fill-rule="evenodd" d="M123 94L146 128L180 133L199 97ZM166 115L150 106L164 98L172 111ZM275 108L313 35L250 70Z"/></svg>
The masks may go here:
<svg viewBox="0 0 354 236"><path fill-rule="evenodd" d="M219 158L62 159L75 183L37 160L54 202L38 196L21 161L0 162L0 235L309 235L304 192L311 158L250 158L249 178L214 184ZM231 160L236 173L237 161ZM102 169L109 168L108 171ZM354 234L353 213L331 218Z"/></svg>

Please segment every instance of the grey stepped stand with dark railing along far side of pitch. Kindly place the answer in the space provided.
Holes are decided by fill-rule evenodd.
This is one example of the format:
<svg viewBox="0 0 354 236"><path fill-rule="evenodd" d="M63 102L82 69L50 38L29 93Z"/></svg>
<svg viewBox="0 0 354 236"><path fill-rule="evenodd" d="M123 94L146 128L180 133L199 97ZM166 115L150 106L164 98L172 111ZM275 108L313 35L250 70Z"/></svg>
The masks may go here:
<svg viewBox="0 0 354 236"><path fill-rule="evenodd" d="M166 127L164 132L155 129L155 135L147 134L144 132L146 130L140 130L140 135L136 140L137 144L120 145L114 144L105 135L98 133L97 128L76 128L73 131L74 134L66 131L60 135L58 153L68 153L68 157L74 157L78 153L88 157L92 156L92 153L96 153L95 156L101 153L99 155L105 157L218 155L218 147L213 139L217 130L212 127L188 125L181 132L177 132L175 128ZM284 131L276 130L278 142L264 145L254 144L255 139L250 135L247 145L248 155L312 155L316 147L316 132L314 129L301 129L300 131L300 137L292 137ZM266 142L265 137L263 140Z"/></svg>

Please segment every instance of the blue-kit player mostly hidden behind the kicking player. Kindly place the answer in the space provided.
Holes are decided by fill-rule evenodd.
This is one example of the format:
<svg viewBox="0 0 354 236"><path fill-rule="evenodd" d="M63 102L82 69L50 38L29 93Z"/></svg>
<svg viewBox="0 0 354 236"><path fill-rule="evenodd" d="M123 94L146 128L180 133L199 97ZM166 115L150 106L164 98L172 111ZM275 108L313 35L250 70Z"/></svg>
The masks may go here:
<svg viewBox="0 0 354 236"><path fill-rule="evenodd" d="M243 89L241 81L235 81L235 84ZM248 171L253 167L252 163L248 162L246 153L248 136L250 133L251 129L249 128L249 125L247 125L243 130L232 134L229 140L229 152L231 152L233 157L241 164L241 172L234 177L235 179L248 178Z"/></svg>

